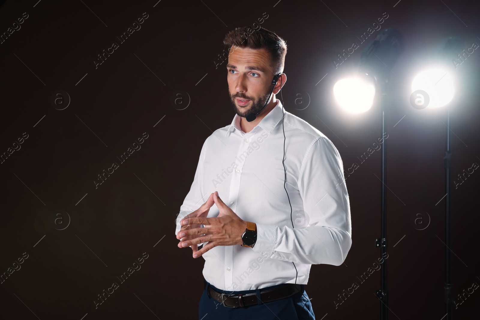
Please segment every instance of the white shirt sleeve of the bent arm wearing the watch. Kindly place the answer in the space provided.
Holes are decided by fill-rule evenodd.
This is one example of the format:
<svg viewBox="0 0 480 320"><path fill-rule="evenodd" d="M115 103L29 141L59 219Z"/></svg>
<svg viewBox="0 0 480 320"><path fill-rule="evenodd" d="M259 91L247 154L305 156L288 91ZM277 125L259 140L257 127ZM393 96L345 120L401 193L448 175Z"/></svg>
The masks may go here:
<svg viewBox="0 0 480 320"><path fill-rule="evenodd" d="M257 224L256 252L302 264L340 265L351 247L351 218L342 159L320 137L303 157L298 179L307 226Z"/></svg>

